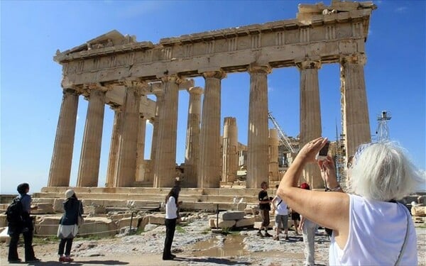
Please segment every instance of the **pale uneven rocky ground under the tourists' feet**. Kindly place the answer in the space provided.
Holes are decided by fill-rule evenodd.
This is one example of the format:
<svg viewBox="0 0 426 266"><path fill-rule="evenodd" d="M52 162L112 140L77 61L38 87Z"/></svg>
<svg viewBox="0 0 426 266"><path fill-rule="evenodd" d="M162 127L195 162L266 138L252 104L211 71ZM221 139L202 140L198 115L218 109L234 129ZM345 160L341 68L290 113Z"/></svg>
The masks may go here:
<svg viewBox="0 0 426 266"><path fill-rule="evenodd" d="M148 224L142 233L90 240L75 238L70 265L302 265L304 245L301 235L290 231L290 240L256 236L255 230L211 233L207 215L193 216L186 226L178 226L172 251L178 257L161 260L165 227ZM418 227L419 264L426 265L426 228ZM270 231L270 233L272 233ZM328 265L329 238L319 230L315 238L315 262ZM58 242L35 240L35 254L42 262L28 265L60 265ZM23 247L18 248L23 258ZM0 265L6 261L7 246L0 245ZM21 264L25 265L25 263Z"/></svg>

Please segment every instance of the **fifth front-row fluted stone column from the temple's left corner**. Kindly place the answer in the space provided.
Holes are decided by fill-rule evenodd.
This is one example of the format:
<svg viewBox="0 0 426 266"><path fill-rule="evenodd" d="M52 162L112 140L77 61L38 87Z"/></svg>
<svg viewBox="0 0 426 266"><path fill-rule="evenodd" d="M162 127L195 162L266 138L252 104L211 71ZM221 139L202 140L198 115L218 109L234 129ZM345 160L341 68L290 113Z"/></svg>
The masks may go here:
<svg viewBox="0 0 426 266"><path fill-rule="evenodd" d="M220 101L222 71L204 72L204 99L200 129L200 162L197 187L220 187Z"/></svg>

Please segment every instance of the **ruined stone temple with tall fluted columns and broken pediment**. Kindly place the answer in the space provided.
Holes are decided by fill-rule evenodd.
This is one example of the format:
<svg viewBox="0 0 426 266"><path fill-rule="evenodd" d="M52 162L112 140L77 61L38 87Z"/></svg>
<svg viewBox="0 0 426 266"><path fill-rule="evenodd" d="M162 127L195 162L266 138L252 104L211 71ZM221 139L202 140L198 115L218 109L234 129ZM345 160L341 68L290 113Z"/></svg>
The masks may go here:
<svg viewBox="0 0 426 266"><path fill-rule="evenodd" d="M300 70L302 146L322 135L321 66L341 66L344 146L346 157L353 154L371 135L364 65L373 9L370 2L300 4L297 18L290 20L163 38L156 44L110 31L70 50L58 50L54 60L62 65L63 96L48 187L70 186L80 96L89 104L77 187L97 187L105 104L115 113L106 187L173 186L180 90L190 94L187 185L217 188L222 179L235 180L234 121L225 121L224 140L220 135L221 83L231 72L250 74L247 188L259 188L268 176L279 178L277 160L271 157L278 153L276 133L268 128L268 74L275 68ZM204 87L195 87L192 77L204 77ZM150 94L155 101L148 99ZM143 159L146 121L153 124L149 160ZM313 188L323 186L317 171L308 166L304 173Z"/></svg>

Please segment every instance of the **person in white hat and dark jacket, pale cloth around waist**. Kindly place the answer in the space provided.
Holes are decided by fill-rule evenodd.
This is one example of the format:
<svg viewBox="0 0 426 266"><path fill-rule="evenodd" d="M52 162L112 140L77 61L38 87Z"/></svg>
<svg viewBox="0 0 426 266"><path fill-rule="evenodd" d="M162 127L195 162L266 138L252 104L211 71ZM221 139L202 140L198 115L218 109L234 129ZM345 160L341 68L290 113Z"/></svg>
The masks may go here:
<svg viewBox="0 0 426 266"><path fill-rule="evenodd" d="M60 238L58 255L60 262L72 262L73 259L70 257L72 240L78 233L78 217L84 214L82 201L77 199L72 189L65 192L64 211L58 227L58 238Z"/></svg>

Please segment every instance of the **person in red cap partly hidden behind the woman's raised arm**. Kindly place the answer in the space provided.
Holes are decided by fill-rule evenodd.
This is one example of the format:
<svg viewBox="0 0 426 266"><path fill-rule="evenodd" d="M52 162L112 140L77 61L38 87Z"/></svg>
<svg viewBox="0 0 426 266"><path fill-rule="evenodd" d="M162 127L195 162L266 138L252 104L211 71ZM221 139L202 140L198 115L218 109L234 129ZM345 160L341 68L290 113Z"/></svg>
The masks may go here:
<svg viewBox="0 0 426 266"><path fill-rule="evenodd" d="M310 190L309 184L300 184L301 189ZM313 223L305 216L301 215L299 229L302 231L303 243L305 244L305 264L306 266L315 265L315 231L317 231L317 224Z"/></svg>

